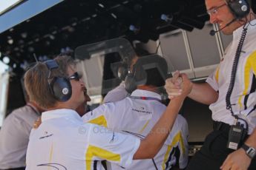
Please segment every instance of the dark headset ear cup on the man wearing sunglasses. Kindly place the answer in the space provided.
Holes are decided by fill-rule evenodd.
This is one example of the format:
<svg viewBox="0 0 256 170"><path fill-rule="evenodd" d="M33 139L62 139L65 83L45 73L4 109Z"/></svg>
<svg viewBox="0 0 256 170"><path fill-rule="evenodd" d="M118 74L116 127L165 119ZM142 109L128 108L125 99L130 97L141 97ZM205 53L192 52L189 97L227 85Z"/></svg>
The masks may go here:
<svg viewBox="0 0 256 170"><path fill-rule="evenodd" d="M58 101L68 101L72 95L72 86L67 78L53 78L50 83L54 97Z"/></svg>

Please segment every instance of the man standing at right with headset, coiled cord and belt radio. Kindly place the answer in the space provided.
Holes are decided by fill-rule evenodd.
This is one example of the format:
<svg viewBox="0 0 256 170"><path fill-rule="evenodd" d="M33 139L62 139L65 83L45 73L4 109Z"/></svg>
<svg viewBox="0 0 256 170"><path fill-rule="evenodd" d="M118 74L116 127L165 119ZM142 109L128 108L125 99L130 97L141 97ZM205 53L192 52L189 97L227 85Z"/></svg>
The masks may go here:
<svg viewBox="0 0 256 170"><path fill-rule="evenodd" d="M189 98L210 104L214 132L187 169L256 169L255 14L245 0L206 0L206 8L211 23L219 24L224 34L233 34L223 61L204 84L187 78L180 84L177 72L165 86L173 99L187 82Z"/></svg>

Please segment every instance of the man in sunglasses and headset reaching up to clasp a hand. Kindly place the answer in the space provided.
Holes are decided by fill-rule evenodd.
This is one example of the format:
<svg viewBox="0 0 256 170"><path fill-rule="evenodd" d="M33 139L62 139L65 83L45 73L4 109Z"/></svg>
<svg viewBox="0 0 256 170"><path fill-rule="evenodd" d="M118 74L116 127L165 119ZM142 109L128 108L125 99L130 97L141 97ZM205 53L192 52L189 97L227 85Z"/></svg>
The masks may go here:
<svg viewBox="0 0 256 170"><path fill-rule="evenodd" d="M102 169L99 160L127 167L131 160L152 158L168 137L177 112L187 95L171 101L144 140L83 123L74 110L85 100L85 84L71 58L39 62L25 76L30 98L47 109L42 124L30 134L27 168ZM186 86L184 87L186 88Z"/></svg>

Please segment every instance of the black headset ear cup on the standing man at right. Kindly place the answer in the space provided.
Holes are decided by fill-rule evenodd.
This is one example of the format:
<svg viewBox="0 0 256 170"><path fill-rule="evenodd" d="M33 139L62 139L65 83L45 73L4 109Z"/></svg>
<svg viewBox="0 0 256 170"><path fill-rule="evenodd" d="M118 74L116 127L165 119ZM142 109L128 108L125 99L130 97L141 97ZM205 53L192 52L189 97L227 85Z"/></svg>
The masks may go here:
<svg viewBox="0 0 256 170"><path fill-rule="evenodd" d="M244 18L250 12L247 0L226 0L226 3L236 18Z"/></svg>

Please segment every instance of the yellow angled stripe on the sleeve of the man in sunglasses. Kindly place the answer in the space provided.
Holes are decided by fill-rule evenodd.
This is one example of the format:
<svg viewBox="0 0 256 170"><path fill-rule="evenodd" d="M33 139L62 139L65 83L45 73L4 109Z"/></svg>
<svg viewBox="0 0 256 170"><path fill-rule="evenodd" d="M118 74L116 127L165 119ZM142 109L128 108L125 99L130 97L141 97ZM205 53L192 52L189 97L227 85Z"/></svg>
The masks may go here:
<svg viewBox="0 0 256 170"><path fill-rule="evenodd" d="M91 166L93 163L93 157L99 157L102 158L102 160L110 160L115 162L120 162L121 156L120 154L115 154L113 152L110 152L108 150L96 147L96 146L88 146L87 152L85 154L85 160L86 160L86 169L91 170Z"/></svg>

